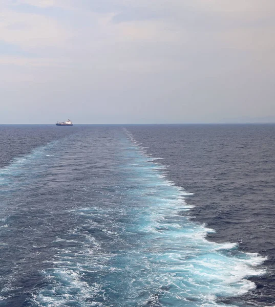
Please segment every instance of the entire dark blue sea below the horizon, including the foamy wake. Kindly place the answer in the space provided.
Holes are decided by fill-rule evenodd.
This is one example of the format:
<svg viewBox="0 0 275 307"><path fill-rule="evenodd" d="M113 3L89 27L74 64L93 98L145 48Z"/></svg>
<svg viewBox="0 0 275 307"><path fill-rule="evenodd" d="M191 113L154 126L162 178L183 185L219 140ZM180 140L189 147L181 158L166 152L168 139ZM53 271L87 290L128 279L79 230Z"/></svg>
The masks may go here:
<svg viewBox="0 0 275 307"><path fill-rule="evenodd" d="M0 307L275 305L275 125L0 125Z"/></svg>

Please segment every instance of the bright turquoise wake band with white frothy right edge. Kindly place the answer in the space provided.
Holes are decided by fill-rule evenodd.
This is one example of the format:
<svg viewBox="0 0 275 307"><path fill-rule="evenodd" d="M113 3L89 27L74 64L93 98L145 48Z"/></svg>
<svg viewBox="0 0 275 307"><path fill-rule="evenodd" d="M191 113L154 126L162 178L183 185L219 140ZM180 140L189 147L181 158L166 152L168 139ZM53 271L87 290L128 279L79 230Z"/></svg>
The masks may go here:
<svg viewBox="0 0 275 307"><path fill-rule="evenodd" d="M132 143L128 147L132 150L131 160L134 159L135 164L139 162L132 171L137 177L149 177L155 168L154 160L145 152L142 155L137 153L140 152L138 142L130 131L124 131ZM168 297L175 300L174 305L186 300L197 301L194 305L218 305L217 299L221 297L240 296L256 288L255 283L247 278L265 274L265 270L257 266L266 257L243 253L236 243L208 242L205 237L214 230L192 222L184 215L190 208L184 196L192 193L166 180L165 174L146 181L140 189L152 186L158 186L158 189L154 198L148 199L150 218L143 227L152 235L151 244L154 245L150 249L156 252L154 266L159 268L156 274L171 287Z"/></svg>

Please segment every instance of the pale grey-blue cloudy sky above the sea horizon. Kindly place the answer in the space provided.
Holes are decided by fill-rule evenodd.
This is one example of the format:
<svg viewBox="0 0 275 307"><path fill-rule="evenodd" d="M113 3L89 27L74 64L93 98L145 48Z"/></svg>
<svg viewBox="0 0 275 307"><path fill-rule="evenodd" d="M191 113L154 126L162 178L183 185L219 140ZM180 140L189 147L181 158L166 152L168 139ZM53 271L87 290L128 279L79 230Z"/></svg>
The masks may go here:
<svg viewBox="0 0 275 307"><path fill-rule="evenodd" d="M0 123L275 122L274 0L0 0Z"/></svg>

